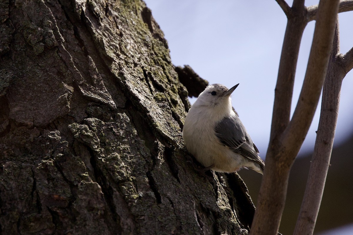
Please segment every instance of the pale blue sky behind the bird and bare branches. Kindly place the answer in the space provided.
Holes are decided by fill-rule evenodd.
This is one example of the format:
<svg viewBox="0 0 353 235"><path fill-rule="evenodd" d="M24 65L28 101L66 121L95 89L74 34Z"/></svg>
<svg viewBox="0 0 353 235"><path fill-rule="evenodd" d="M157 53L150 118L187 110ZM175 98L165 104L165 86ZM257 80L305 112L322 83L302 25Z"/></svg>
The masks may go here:
<svg viewBox="0 0 353 235"><path fill-rule="evenodd" d="M270 137L274 89L287 18L276 1L145 0L168 41L172 63L190 65L210 84L231 88L232 104L253 142L265 157ZM305 1L306 6L318 0ZM287 1L292 5L292 1ZM353 12L339 14L341 53L353 47ZM303 84L315 21L304 31L295 75L292 114ZM343 80L334 145L353 133L353 72ZM191 103L195 101L190 100ZM311 152L319 109L301 153ZM325 235L352 234L353 224ZM322 234L323 235L323 234Z"/></svg>

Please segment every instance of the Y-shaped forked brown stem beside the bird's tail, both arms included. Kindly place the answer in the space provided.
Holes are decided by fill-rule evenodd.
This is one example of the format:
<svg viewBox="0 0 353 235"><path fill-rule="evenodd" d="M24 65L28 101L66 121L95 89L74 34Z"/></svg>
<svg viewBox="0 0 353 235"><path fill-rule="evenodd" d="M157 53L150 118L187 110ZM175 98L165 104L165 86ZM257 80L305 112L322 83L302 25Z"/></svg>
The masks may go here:
<svg viewBox="0 0 353 235"><path fill-rule="evenodd" d="M294 5L296 9L294 12L298 11L299 14L302 13L298 7L303 6L304 8L303 2L302 0L293 2L293 9ZM292 54L287 51L291 46L286 45L285 47L286 40L283 42L275 92L270 144L266 155L266 167L260 188L257 210L250 230L251 235L274 235L278 232L286 199L289 171L309 129L327 72L338 7L339 0L320 1L318 20L315 26L303 89L293 118L288 126L288 107L290 110L288 98L292 97L293 85L291 82L293 81L295 70L290 70L289 73L282 71L284 75L289 77L281 76L280 73L282 72L280 70L282 69L281 63L284 63L283 59L289 61L288 57L297 57L298 54ZM307 23L306 18L301 16L303 14L288 18L285 37L289 34L287 30L290 20L302 19L305 21L305 27ZM287 54L287 56L284 54ZM294 61L296 63L297 59L295 58ZM288 66L288 68L291 67ZM285 84L285 81L288 81L290 84ZM286 95L285 92L290 93L290 95ZM285 99L284 103L282 103L281 98ZM287 107L281 108L281 103ZM266 229L264 230L264 228Z"/></svg>

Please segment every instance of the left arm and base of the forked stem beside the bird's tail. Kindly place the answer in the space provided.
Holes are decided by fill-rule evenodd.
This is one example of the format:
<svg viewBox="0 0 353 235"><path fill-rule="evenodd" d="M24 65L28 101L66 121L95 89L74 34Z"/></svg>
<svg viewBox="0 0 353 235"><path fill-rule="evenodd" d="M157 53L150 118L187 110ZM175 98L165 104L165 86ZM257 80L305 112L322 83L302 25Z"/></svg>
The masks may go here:
<svg viewBox="0 0 353 235"><path fill-rule="evenodd" d="M266 229L266 234L277 233L285 204L289 166L284 169L279 167L281 163L277 161L275 155L277 155L277 146L280 143L279 137L289 123L300 41L307 23L303 17L306 11L304 1L294 0L293 7L294 5L295 11L291 17L288 17L283 39L275 88L270 144L261 186L262 193L259 195L257 210L250 230L251 234L264 234L263 228L271 228Z"/></svg>

